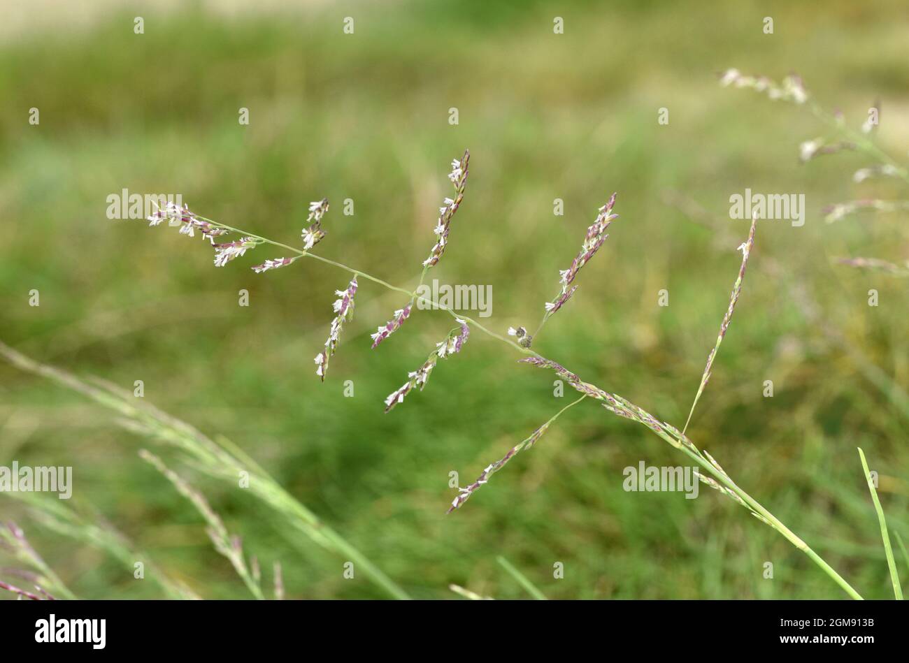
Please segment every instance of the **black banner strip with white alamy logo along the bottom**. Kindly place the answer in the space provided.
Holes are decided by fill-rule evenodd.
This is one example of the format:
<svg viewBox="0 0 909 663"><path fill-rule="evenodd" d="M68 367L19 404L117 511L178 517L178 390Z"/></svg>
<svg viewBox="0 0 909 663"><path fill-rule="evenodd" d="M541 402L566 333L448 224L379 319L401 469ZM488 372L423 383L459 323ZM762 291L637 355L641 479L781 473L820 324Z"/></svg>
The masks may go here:
<svg viewBox="0 0 909 663"><path fill-rule="evenodd" d="M5 654L262 653L275 646L396 647L438 638L460 649L589 641L642 654L693 646L774 648L862 656L893 647L900 601L3 601ZM456 635L453 635L456 634ZM453 639L454 638L454 639ZM333 644L334 643L334 644ZM307 646L309 647L309 646ZM385 645L382 646L384 648ZM468 649L465 648L466 652ZM719 650L717 650L719 651Z"/></svg>

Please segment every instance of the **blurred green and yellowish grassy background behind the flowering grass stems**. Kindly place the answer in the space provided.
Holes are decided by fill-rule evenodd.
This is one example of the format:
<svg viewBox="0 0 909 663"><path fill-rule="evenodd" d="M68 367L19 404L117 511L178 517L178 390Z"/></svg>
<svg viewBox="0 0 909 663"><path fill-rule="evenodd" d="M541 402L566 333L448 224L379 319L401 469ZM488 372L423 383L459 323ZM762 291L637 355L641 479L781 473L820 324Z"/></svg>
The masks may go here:
<svg viewBox="0 0 909 663"><path fill-rule="evenodd" d="M798 163L798 143L824 135L821 125L792 104L721 88L716 74L734 66L779 80L795 71L855 127L880 99L878 139L904 160L904 3L101 3L77 11L44 2L16 12L0 46L0 340L129 390L144 381L147 401L234 440L418 598L455 598L449 583L524 598L498 555L555 599L844 593L713 491L697 500L625 492L626 466L684 458L589 402L446 516L449 472L462 485L474 480L572 392L554 398L552 375L474 332L424 392L386 415L385 396L450 328L445 312L415 312L371 351L368 334L405 302L361 280L354 322L320 383L312 358L345 272L302 261L253 273L249 266L280 254L267 248L215 269L197 238L107 219L106 196L183 193L197 213L295 244L306 204L327 196L334 204L317 252L412 287L450 191L448 163L468 147L464 203L430 278L491 284L493 315L482 322L501 333L535 326L558 270L617 191L621 218L534 349L681 425L747 233L728 218L729 196L746 187L804 193L804 227L758 225L744 293L689 435L866 598L892 597L855 447L880 474L891 528L909 539L905 281L834 259L909 258L905 214L826 225L822 210L901 189L852 183L868 164L856 153ZM137 15L144 35L134 34ZM342 31L345 16L354 35ZM554 35L554 16L564 17L564 35ZM28 124L32 107L39 125ZM241 107L248 126L237 122ZM661 107L668 125L657 124ZM342 213L345 198L355 215ZM564 216L554 216L554 198L564 199ZM871 288L876 308L867 305ZM40 307L28 305L32 289ZM247 308L237 305L240 289L250 292ZM668 307L657 306L661 289ZM820 317L805 315L799 293ZM344 397L345 380L354 398ZM774 381L773 398L762 395L765 380ZM248 597L195 510L137 458L147 444L95 404L0 362L0 464L74 466L66 506L103 514L201 596ZM385 596L362 574L344 579L343 559L292 545L243 490L155 452L205 492L247 553L266 569L281 560L289 597ZM77 595L160 596L2 495L0 516L25 529ZM556 561L564 579L553 578ZM763 578L765 561L774 579Z"/></svg>

